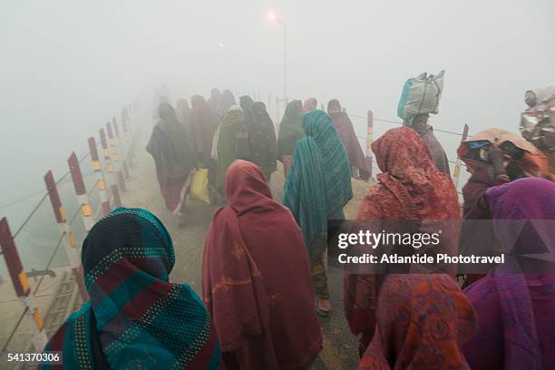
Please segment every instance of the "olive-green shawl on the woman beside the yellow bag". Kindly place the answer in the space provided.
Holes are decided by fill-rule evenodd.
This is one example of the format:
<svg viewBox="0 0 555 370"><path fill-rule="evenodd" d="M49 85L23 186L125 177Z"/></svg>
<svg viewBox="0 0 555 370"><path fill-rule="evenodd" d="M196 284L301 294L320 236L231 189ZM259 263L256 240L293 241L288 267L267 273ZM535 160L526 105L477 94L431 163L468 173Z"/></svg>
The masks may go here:
<svg viewBox="0 0 555 370"><path fill-rule="evenodd" d="M216 188L223 193L226 180L226 171L231 162L238 159L239 136L246 134L245 115L239 106L234 106L226 112L224 120L219 127L218 134L218 170Z"/></svg>

